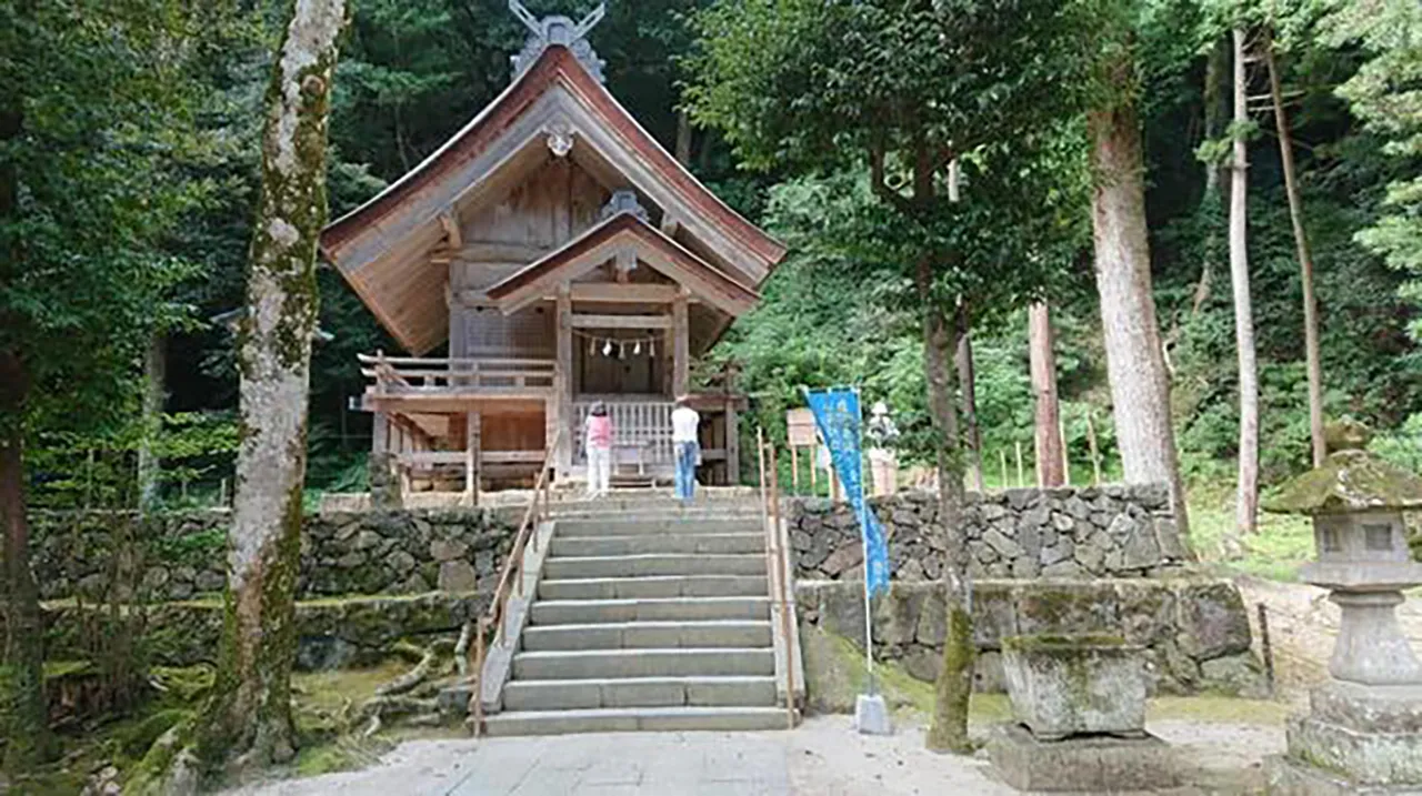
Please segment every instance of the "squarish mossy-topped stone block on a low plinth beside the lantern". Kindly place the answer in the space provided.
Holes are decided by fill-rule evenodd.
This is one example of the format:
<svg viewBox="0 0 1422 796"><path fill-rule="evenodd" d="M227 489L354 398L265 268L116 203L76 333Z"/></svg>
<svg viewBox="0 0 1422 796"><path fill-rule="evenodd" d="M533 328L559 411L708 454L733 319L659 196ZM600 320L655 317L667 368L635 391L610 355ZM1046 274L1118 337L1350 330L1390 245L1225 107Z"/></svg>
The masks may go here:
<svg viewBox="0 0 1422 796"><path fill-rule="evenodd" d="M1012 715L1038 739L1136 735L1145 728L1142 647L1111 637L1025 635L1003 641Z"/></svg>

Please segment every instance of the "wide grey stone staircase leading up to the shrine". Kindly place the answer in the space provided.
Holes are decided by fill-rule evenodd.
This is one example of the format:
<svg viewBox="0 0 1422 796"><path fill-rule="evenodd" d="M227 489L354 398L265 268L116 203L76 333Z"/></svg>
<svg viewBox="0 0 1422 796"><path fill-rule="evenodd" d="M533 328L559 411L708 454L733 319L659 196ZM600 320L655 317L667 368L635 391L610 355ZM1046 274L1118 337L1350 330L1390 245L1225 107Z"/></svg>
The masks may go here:
<svg viewBox="0 0 1422 796"><path fill-rule="evenodd" d="M758 505L720 503L555 519L488 733L786 726Z"/></svg>

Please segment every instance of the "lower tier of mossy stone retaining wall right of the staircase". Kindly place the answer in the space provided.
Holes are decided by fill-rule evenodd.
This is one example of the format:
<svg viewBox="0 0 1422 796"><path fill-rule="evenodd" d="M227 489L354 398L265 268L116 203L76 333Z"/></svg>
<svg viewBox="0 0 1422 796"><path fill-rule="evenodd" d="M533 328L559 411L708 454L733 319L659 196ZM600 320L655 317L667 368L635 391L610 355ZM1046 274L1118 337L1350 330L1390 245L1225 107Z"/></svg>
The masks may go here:
<svg viewBox="0 0 1422 796"><path fill-rule="evenodd" d="M818 630L863 650L865 591L855 581L795 584L801 637ZM973 584L980 691L1004 691L1001 640L1027 634L1111 634L1146 647L1152 692L1260 695L1250 624L1233 583L1217 579L1112 579ZM946 613L939 581L893 583L873 606L875 658L931 682L943 661ZM808 668L813 668L806 662ZM806 671L811 688L822 674ZM813 701L813 695L812 695Z"/></svg>

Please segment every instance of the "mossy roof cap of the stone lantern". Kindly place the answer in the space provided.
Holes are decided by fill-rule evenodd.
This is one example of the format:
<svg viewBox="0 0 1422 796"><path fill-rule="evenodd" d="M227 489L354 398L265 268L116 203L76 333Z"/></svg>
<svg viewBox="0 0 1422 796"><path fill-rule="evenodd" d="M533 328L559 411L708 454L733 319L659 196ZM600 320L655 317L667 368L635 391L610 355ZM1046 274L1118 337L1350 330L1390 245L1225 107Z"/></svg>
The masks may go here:
<svg viewBox="0 0 1422 796"><path fill-rule="evenodd" d="M1344 436L1344 449L1285 483L1264 509L1288 515L1422 509L1422 478L1362 451L1365 436Z"/></svg>

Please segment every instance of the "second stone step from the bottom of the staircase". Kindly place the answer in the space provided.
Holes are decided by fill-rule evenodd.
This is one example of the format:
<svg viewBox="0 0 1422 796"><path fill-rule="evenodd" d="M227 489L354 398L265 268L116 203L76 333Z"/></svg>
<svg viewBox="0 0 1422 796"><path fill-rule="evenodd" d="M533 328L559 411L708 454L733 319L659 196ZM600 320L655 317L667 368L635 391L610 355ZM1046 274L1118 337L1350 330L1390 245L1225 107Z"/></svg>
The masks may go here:
<svg viewBox="0 0 1422 796"><path fill-rule="evenodd" d="M503 688L506 711L590 708L771 706L774 677L629 677L522 679Z"/></svg>

